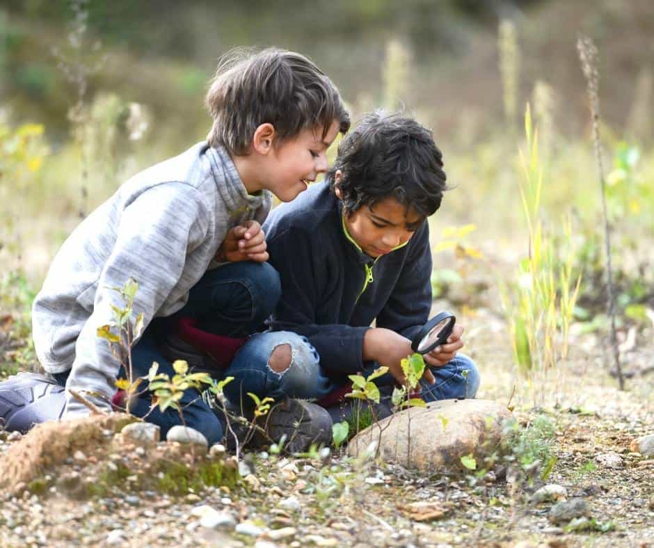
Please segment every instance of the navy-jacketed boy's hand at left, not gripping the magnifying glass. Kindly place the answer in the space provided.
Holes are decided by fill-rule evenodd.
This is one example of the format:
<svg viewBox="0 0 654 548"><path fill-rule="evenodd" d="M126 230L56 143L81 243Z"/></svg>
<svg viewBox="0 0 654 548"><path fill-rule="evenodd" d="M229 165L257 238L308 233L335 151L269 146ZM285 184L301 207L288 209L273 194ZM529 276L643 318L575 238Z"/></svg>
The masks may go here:
<svg viewBox="0 0 654 548"><path fill-rule="evenodd" d="M413 354L411 341L406 337L402 337L399 333L385 328L371 328L365 332L363 337L363 359L375 360L380 365L387 366L388 372L397 380L399 385L406 385L401 361L411 354ZM422 380L430 385L436 382L429 367L424 369Z"/></svg>

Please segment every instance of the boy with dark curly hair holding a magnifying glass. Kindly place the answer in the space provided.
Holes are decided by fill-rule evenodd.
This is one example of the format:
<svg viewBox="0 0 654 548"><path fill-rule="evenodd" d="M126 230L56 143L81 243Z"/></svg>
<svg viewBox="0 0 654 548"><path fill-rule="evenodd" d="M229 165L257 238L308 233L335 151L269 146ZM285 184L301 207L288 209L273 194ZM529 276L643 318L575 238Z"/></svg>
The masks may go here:
<svg viewBox="0 0 654 548"><path fill-rule="evenodd" d="M380 364L389 373L378 384L404 383L400 362L431 309L427 218L440 207L445 180L430 131L401 115L362 119L340 143L325 182L266 220L282 297L272 331L250 337L232 362L231 398L254 392L328 405L347 375ZM458 353L462 334L456 324L447 343L424 357L425 401L477 393L477 367ZM292 365L257 370L257 355L279 341L293 341Z"/></svg>

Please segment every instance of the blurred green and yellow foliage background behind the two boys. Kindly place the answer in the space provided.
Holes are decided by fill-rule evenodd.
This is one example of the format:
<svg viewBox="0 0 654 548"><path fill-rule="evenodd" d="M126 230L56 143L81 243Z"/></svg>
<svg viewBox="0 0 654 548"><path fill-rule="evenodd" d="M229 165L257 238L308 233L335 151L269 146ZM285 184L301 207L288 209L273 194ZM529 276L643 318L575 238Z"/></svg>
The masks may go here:
<svg viewBox="0 0 654 548"><path fill-rule="evenodd" d="M1 264L38 287L81 217L129 175L205 137L218 57L276 45L316 61L354 118L403 108L433 129L456 187L432 219L433 288L468 312L499 312L504 287L519 314L528 287L519 151L529 103L548 268L582 275L573 316L599 329L603 234L578 33L600 51L621 322L645 328L654 307L651 0L0 0Z"/></svg>

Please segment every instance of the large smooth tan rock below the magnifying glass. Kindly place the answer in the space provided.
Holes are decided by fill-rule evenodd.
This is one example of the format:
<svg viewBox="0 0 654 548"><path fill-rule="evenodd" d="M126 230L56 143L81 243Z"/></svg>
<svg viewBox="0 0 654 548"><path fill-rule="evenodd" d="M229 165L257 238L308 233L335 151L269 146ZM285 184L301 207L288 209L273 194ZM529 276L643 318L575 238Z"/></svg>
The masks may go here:
<svg viewBox="0 0 654 548"><path fill-rule="evenodd" d="M472 453L481 464L497 449L502 424L509 417L511 412L494 401L436 401L369 426L353 437L347 450L358 455L374 443L383 460L407 468L423 472L461 469L461 457Z"/></svg>

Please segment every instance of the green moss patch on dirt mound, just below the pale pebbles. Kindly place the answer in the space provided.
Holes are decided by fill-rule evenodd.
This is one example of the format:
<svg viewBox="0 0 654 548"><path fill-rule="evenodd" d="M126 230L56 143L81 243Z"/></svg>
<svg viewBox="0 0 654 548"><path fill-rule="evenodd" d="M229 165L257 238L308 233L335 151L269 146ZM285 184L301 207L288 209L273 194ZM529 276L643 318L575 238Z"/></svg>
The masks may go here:
<svg viewBox="0 0 654 548"><path fill-rule="evenodd" d="M181 462L165 460L160 462L159 472L157 489L173 495L186 494L189 489L199 491L207 486L234 487L237 483L237 471L225 467L223 462L198 462L193 467L189 467Z"/></svg>

